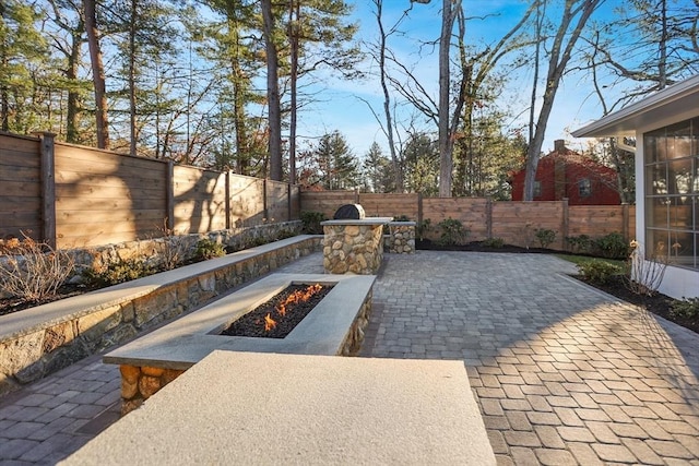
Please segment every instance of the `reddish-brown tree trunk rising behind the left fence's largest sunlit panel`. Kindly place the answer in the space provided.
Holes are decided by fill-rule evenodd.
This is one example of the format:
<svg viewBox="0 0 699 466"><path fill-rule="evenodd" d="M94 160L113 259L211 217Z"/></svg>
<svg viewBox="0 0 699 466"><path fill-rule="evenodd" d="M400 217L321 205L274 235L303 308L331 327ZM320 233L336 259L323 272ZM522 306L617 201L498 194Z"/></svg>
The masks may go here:
<svg viewBox="0 0 699 466"><path fill-rule="evenodd" d="M97 29L95 0L84 0L83 9L85 10L85 32L87 34L87 46L90 48L90 60L92 62L92 79L95 87L97 147L109 148L105 68L102 62L102 50L99 48L99 31Z"/></svg>

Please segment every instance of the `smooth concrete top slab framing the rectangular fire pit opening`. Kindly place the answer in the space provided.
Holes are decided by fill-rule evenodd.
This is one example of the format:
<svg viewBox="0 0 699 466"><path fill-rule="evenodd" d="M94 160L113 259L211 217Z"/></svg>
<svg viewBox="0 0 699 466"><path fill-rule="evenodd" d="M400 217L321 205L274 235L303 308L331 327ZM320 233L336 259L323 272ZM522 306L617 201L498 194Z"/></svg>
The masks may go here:
<svg viewBox="0 0 699 466"><path fill-rule="evenodd" d="M271 274L114 349L103 360L187 370L216 349L336 355L375 280L374 275ZM285 338L220 335L227 324L292 283L333 283L334 287Z"/></svg>

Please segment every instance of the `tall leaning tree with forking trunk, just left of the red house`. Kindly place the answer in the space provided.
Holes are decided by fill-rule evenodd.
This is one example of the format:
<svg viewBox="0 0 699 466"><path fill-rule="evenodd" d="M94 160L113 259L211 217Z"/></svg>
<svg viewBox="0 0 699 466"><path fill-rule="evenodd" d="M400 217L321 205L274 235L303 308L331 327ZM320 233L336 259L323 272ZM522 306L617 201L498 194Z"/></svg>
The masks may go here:
<svg viewBox="0 0 699 466"><path fill-rule="evenodd" d="M546 0L544 0L546 1ZM550 117L556 93L573 48L580 37L583 27L592 13L604 0L565 0L561 10L560 22L554 35L554 40L548 51L548 68L546 72L546 85L542 96L542 106L536 118L534 138L529 141L526 151L526 171L524 175L524 201L534 199L534 180L538 158L541 156L546 126Z"/></svg>

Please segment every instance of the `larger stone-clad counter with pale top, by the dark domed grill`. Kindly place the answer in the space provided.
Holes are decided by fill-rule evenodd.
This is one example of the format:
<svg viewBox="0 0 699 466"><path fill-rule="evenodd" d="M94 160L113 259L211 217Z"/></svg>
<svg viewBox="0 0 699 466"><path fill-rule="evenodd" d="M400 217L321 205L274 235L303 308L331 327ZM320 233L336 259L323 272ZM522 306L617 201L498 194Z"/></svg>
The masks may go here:
<svg viewBox="0 0 699 466"><path fill-rule="evenodd" d="M325 272L376 275L383 260L383 226L392 219L366 217L322 222Z"/></svg>

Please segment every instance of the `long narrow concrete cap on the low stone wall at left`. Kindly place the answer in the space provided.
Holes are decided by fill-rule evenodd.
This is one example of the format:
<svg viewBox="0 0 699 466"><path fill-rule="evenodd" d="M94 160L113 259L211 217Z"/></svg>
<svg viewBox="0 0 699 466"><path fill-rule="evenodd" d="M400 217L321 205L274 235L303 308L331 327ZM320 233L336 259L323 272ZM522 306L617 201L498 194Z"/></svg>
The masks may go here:
<svg viewBox="0 0 699 466"><path fill-rule="evenodd" d="M257 248L234 252L223 258L198 262L173 271L162 272L147 277L87 292L85 295L37 306L21 312L0 315L0 340L27 335L46 327L57 325L67 320L86 315L91 312L119 304L129 299L139 298L163 286L200 275L204 272L225 267L256 255L274 251L285 246L301 242L310 237L311 236L309 235L295 236L293 238L270 242Z"/></svg>

